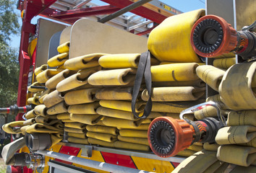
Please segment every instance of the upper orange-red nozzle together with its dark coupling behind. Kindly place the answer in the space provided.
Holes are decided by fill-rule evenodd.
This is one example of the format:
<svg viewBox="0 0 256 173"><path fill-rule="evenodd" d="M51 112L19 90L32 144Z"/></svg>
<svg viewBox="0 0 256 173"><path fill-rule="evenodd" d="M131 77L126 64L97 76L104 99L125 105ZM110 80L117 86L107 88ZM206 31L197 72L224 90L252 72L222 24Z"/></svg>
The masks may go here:
<svg viewBox="0 0 256 173"><path fill-rule="evenodd" d="M192 27L190 41L197 55L207 58L234 52L244 60L256 54L256 22L236 31L225 19L207 15Z"/></svg>

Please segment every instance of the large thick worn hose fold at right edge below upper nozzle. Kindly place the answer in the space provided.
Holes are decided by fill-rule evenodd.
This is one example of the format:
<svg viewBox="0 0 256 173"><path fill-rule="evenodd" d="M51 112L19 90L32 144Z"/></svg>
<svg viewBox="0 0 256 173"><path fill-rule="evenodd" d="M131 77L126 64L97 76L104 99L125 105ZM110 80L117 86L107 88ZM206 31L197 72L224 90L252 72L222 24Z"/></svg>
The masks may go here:
<svg viewBox="0 0 256 173"><path fill-rule="evenodd" d="M231 110L256 110L254 79L256 62L231 66L219 86L222 102Z"/></svg>

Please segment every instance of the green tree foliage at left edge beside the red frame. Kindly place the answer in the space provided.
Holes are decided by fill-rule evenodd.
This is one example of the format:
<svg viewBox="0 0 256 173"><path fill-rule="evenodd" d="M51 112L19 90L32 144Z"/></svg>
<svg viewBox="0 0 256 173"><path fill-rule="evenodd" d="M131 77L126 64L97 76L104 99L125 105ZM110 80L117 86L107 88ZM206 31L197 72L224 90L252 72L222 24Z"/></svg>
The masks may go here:
<svg viewBox="0 0 256 173"><path fill-rule="evenodd" d="M20 32L14 4L13 0L0 1L0 107L9 107L17 102L18 51L9 45L11 36Z"/></svg>

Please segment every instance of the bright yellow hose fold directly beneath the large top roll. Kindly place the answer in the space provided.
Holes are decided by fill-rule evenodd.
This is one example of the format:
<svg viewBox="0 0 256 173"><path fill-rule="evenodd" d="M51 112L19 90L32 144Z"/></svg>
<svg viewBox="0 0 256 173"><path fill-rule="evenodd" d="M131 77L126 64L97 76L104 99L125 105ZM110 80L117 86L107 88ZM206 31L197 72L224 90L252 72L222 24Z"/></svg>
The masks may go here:
<svg viewBox="0 0 256 173"><path fill-rule="evenodd" d="M197 63L173 63L151 66L152 81L195 81Z"/></svg>

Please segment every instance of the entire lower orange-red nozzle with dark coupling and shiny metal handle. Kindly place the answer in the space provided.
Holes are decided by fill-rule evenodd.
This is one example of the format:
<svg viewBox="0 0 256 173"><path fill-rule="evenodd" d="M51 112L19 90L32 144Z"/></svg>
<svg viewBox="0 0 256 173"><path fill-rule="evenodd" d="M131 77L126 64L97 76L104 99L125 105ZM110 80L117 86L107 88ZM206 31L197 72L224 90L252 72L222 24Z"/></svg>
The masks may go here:
<svg viewBox="0 0 256 173"><path fill-rule="evenodd" d="M201 110L203 107L216 107L218 119L207 117L202 120L191 121L183 115ZM216 102L205 102L189 107L180 114L181 120L172 117L157 117L148 128L148 142L152 151L161 157L175 156L179 151L188 148L194 142L214 143L218 129L226 124L225 118Z"/></svg>

